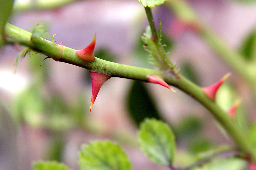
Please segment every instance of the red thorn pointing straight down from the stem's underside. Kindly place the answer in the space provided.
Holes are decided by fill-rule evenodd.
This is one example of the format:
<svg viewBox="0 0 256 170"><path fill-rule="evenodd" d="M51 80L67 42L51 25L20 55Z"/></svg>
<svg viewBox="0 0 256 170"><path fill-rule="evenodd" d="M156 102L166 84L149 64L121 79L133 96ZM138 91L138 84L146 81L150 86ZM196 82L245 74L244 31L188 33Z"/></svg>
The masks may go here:
<svg viewBox="0 0 256 170"><path fill-rule="evenodd" d="M90 106L90 112L93 106L93 103L95 102L95 99L98 95L98 92L103 85L105 81L110 79L110 76L103 74L103 73L97 73L89 71L91 78L92 78L92 99L91 99L91 106Z"/></svg>

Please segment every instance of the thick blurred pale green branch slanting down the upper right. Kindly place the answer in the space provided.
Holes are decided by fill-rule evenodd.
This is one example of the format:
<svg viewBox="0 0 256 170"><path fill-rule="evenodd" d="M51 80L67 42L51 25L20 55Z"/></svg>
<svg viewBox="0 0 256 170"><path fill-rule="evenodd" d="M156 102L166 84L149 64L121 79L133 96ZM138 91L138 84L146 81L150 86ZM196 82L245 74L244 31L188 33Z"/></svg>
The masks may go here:
<svg viewBox="0 0 256 170"><path fill-rule="evenodd" d="M178 19L194 29L205 41L214 49L214 51L242 76L250 84L256 95L256 65L255 62L249 62L238 51L230 48L226 42L215 35L207 26L205 26L195 11L185 0L167 1L165 4L172 9Z"/></svg>

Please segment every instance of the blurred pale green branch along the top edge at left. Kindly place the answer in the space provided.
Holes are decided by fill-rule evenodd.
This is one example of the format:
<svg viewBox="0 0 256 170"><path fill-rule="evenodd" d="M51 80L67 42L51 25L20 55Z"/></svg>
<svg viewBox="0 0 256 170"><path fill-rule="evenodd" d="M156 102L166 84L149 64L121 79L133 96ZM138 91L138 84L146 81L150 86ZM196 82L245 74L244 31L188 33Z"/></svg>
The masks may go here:
<svg viewBox="0 0 256 170"><path fill-rule="evenodd" d="M65 5L81 0L29 0L29 1L15 1L13 12L27 12L38 10L52 10L58 9Z"/></svg>

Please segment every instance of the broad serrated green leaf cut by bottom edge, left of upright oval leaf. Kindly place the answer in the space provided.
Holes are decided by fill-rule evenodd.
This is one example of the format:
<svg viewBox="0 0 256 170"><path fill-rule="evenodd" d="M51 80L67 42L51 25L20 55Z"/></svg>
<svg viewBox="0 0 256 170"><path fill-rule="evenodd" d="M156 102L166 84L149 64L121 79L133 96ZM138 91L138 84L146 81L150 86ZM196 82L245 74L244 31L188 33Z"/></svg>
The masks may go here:
<svg viewBox="0 0 256 170"><path fill-rule="evenodd" d="M130 161L122 148L111 141L90 142L82 147L81 170L131 170Z"/></svg>

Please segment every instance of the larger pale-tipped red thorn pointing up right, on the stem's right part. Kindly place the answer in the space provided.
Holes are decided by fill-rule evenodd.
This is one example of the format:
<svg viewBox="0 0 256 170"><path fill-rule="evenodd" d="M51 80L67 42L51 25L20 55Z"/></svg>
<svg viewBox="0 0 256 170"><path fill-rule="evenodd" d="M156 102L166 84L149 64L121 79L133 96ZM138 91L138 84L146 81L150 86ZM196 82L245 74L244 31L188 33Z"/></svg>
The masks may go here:
<svg viewBox="0 0 256 170"><path fill-rule="evenodd" d="M208 87L202 88L204 93L211 99L215 100L215 96L217 93L217 90L220 88L220 86L226 81L226 79L231 75L231 73L227 73L225 76L223 76L222 79L220 79L218 82L216 82L213 85L210 85Z"/></svg>

